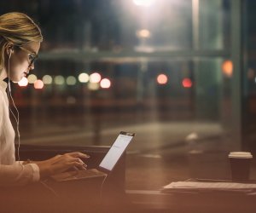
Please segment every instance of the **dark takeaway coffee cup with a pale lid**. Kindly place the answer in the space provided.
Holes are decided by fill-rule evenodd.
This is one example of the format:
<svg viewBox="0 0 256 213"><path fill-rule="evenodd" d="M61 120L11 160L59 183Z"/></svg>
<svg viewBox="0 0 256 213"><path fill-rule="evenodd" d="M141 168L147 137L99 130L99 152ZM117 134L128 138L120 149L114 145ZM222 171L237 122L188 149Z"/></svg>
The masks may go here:
<svg viewBox="0 0 256 213"><path fill-rule="evenodd" d="M232 180L247 181L250 176L253 155L247 152L231 152L229 158Z"/></svg>

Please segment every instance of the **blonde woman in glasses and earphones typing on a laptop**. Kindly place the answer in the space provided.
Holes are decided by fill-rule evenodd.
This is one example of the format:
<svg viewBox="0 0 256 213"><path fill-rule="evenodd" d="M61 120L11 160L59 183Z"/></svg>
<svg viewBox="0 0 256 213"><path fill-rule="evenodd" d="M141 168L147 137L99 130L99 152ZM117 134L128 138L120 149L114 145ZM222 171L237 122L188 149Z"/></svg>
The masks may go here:
<svg viewBox="0 0 256 213"><path fill-rule="evenodd" d="M42 41L39 27L26 14L0 16L0 186L25 185L73 167L85 170L80 158L89 158L84 153L67 153L40 162L15 161L15 130L4 80L19 82L26 77L34 68Z"/></svg>

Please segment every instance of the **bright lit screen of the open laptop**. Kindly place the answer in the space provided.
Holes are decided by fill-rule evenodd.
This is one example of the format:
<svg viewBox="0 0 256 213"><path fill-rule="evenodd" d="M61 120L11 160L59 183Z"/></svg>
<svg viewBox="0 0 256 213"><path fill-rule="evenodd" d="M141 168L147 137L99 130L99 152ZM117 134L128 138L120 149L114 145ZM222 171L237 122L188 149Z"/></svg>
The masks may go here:
<svg viewBox="0 0 256 213"><path fill-rule="evenodd" d="M116 140L113 142L112 147L110 147L108 153L102 159L100 167L105 170L113 170L114 165L118 162L122 153L125 152L126 147L128 147L134 133L120 132Z"/></svg>

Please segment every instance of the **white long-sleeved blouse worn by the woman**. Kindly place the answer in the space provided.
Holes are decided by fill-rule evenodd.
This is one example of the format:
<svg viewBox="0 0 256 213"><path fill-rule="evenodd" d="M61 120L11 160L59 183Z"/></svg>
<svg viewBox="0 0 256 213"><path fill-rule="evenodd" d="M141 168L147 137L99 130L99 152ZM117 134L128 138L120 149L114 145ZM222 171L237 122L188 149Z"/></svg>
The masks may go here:
<svg viewBox="0 0 256 213"><path fill-rule="evenodd" d="M0 80L0 187L39 181L37 164L15 161L15 130L9 119L7 83Z"/></svg>

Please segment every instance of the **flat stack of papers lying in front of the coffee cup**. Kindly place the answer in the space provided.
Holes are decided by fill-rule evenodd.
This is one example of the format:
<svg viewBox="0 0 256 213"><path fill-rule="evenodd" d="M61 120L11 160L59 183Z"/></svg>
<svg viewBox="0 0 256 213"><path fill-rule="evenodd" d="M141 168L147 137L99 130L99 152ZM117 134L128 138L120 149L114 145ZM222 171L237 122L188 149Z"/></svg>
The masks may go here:
<svg viewBox="0 0 256 213"><path fill-rule="evenodd" d="M255 193L256 184L238 182L177 181L162 187L164 192L241 192Z"/></svg>

